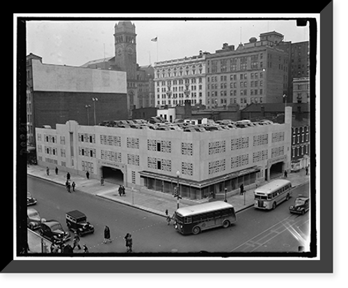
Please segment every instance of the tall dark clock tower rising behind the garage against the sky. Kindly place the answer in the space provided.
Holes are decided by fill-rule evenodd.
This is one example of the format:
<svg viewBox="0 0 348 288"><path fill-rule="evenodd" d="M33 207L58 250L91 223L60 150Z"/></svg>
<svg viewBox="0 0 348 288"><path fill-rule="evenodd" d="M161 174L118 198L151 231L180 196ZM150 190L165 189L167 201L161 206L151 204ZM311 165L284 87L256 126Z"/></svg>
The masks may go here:
<svg viewBox="0 0 348 288"><path fill-rule="evenodd" d="M115 24L115 59L118 69L127 72L127 81L136 80L136 33L130 21Z"/></svg>

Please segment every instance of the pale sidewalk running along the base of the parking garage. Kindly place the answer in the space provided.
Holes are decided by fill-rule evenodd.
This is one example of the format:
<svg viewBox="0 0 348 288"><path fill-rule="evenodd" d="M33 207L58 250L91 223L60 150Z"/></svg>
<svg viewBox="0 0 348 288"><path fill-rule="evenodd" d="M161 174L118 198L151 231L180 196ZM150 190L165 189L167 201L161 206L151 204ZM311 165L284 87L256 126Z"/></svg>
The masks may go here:
<svg viewBox="0 0 348 288"><path fill-rule="evenodd" d="M33 177L46 179L56 184L60 184L63 186L62 188L65 189L65 171L58 171L58 175L56 175L54 169L51 169L49 176L47 176L46 168L42 166L31 165L27 168L27 174ZM305 170L300 170L297 173L288 173L287 179L292 182L293 187L309 182L309 176L306 176ZM160 197L160 192L158 193L158 196L153 194L149 195L147 193L141 193L137 189L126 187L126 195L120 196L118 195L118 185L107 182L106 180L104 182L104 186L101 186L99 179L86 179L86 177L71 174L70 183L72 182L75 182L75 191L77 192L90 193L98 197L120 202L124 205L136 207L138 209L142 209L160 216L166 216L166 209L168 209L168 214L170 216L173 215L174 211L177 209L176 198L173 197L173 200L171 200L168 198ZM243 209L246 209L247 207L253 206L253 189L247 190L244 194L245 195L239 195L239 193L237 193L237 195L232 195L227 198L228 202L235 207L235 211L241 211ZM188 205L180 202L180 207L186 206Z"/></svg>

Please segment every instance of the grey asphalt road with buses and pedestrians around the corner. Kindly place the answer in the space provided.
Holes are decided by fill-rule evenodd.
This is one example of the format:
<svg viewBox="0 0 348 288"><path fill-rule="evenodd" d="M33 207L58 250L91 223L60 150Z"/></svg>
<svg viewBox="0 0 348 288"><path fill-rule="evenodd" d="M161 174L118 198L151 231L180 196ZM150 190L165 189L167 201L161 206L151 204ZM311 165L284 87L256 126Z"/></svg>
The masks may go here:
<svg viewBox="0 0 348 288"><path fill-rule="evenodd" d="M83 211L95 226L94 234L81 237L90 253L125 253L125 234L133 237L134 253L215 253L297 252L308 236L309 213L290 214L288 207L298 193L308 193L308 184L295 188L292 198L275 210L253 207L237 214L237 223L198 235L182 235L166 219L146 211L98 198L83 192L68 193L64 186L27 177L28 191L38 200L33 206L46 219L56 219L64 228L65 212ZM103 244L104 225L111 230L112 243ZM302 237L302 238L301 238ZM72 243L72 240L68 241ZM75 248L77 250L77 248Z"/></svg>

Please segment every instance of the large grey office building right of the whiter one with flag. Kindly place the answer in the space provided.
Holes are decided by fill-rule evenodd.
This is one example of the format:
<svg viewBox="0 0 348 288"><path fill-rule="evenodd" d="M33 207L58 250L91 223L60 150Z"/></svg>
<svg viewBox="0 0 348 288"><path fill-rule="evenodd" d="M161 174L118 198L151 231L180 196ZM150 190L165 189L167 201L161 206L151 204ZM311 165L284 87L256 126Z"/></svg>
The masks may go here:
<svg viewBox="0 0 348 288"><path fill-rule="evenodd" d="M260 38L240 43L237 49L224 43L206 56L207 108L239 104L243 109L251 103L283 102L289 63L287 54L276 47L283 35L274 31L269 38L262 34Z"/></svg>

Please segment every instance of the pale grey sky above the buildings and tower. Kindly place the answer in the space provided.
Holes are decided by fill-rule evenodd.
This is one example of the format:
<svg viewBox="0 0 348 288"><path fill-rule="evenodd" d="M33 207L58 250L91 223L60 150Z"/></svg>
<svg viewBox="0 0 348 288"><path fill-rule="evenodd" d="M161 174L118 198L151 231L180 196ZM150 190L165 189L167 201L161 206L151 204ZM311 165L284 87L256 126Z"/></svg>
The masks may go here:
<svg viewBox="0 0 348 288"><path fill-rule="evenodd" d="M248 19L239 19L241 15L219 14L217 18L212 18L210 15L203 16L189 15L187 21L182 19L183 15L171 15L170 19L156 19L153 15L142 15L141 19L136 19L138 15L123 18L132 21L136 26L137 63L153 65L157 61L198 55L200 50L214 53L217 49L221 49L224 42L235 45L237 48L240 42L248 42L251 37L260 40L260 33L268 31L283 34L285 41L309 40L309 25L297 27L294 19L253 19L255 17L253 15L248 15ZM109 17L113 18L109 19ZM52 17L49 20L36 18L35 21L27 21L26 54L33 53L41 56L42 63L72 66L114 56L114 26L122 20L116 17L103 15L102 18L96 17L93 21L81 21L77 15L69 21L64 19L57 21L56 19L59 19L57 15L57 18ZM125 17L125 15L118 15L118 17ZM168 17L168 15L162 15L162 17ZM196 17L201 18L195 19ZM277 17L282 16L277 15ZM285 15L284 17L303 16ZM152 42L151 39L155 37L157 42Z"/></svg>

